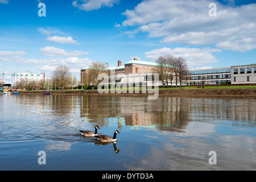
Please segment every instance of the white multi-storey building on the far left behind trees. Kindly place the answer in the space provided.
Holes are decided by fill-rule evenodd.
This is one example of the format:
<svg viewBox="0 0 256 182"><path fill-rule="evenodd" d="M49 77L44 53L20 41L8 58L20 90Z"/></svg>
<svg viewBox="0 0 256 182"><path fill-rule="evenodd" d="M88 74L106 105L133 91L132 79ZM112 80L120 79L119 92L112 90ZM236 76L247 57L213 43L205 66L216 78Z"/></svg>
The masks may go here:
<svg viewBox="0 0 256 182"><path fill-rule="evenodd" d="M46 73L32 73L32 72L24 72L24 73L14 73L11 75L11 85L13 87L16 86L17 82L27 80L30 81L46 81Z"/></svg>

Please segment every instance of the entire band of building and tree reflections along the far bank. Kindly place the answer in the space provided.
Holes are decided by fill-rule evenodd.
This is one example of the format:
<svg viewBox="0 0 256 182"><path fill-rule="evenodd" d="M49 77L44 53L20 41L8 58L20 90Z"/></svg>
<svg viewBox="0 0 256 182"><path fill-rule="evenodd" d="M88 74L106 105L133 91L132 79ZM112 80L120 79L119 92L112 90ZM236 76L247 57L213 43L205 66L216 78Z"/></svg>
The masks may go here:
<svg viewBox="0 0 256 182"><path fill-rule="evenodd" d="M39 99L40 98L40 99ZM47 110L65 122L80 115L86 122L108 126L117 122L131 127L153 127L166 131L183 131L189 122L241 121L232 125L254 127L256 101L237 97L108 97L108 96L33 96L15 97L18 104ZM23 102L26 100L26 102ZM22 101L22 102L21 102ZM66 123L67 124L67 123Z"/></svg>

